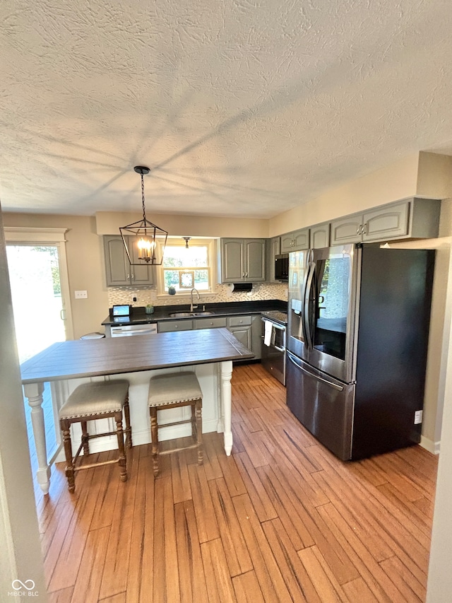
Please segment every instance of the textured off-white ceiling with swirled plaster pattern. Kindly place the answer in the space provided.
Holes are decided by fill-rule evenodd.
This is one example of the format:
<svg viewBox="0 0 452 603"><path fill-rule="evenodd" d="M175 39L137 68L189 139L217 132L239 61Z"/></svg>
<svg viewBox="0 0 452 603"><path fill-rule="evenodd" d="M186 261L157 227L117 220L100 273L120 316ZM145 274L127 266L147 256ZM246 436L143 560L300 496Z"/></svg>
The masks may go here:
<svg viewBox="0 0 452 603"><path fill-rule="evenodd" d="M4 211L274 216L452 154L450 0L5 0Z"/></svg>

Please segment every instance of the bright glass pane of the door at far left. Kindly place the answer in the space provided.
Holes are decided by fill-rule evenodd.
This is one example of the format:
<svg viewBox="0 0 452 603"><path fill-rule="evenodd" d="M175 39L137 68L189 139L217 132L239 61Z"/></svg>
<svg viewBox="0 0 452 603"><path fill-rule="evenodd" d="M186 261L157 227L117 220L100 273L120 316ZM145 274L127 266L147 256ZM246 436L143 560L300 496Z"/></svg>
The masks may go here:
<svg viewBox="0 0 452 603"><path fill-rule="evenodd" d="M57 245L7 244L19 361L66 339Z"/></svg>

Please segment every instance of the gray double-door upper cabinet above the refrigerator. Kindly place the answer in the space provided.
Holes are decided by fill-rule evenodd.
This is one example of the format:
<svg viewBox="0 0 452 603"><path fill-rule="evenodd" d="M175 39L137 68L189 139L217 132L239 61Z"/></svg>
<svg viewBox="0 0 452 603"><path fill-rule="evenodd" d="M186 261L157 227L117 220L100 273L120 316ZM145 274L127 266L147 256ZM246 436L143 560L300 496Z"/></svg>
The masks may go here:
<svg viewBox="0 0 452 603"><path fill-rule="evenodd" d="M331 222L331 245L438 236L439 199L413 197Z"/></svg>

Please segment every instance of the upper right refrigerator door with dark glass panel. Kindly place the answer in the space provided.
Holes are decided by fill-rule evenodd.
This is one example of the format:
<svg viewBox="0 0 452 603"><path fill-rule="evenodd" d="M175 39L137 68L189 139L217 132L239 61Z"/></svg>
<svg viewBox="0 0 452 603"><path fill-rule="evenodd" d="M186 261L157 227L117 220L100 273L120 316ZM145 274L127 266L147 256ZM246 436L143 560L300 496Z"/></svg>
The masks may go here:
<svg viewBox="0 0 452 603"><path fill-rule="evenodd" d="M356 270L353 245L314 252L307 295L309 364L344 381L352 380Z"/></svg>

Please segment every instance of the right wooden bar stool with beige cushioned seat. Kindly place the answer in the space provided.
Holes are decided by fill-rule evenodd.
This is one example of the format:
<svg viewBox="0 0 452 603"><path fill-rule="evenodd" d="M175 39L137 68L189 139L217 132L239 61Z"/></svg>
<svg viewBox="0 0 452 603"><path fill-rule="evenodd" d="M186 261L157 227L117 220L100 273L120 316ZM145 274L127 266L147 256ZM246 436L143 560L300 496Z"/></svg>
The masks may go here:
<svg viewBox="0 0 452 603"><path fill-rule="evenodd" d="M148 405L154 475L158 475L159 472L159 454L166 455L169 454L169 452L197 448L198 464L202 464L203 392L201 392L201 387L199 387L196 375L194 373L171 373L151 377L149 382ZM165 425L159 426L157 423L157 411L174 409L178 406L191 406L191 418L183 421L174 421L174 423L165 423ZM158 445L158 430L162 427L182 425L182 423L191 423L191 435L194 442L188 446L172 448L171 450L160 452Z"/></svg>

